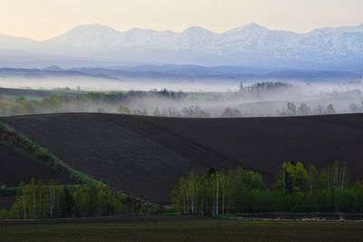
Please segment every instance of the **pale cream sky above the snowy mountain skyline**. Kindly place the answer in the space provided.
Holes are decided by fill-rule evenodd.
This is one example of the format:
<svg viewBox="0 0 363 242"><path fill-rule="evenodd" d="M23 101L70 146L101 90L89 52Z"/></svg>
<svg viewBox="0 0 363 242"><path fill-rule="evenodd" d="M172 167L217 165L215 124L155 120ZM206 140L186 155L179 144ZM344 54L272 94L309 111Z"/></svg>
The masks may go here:
<svg viewBox="0 0 363 242"><path fill-rule="evenodd" d="M44 40L78 24L223 32L257 23L308 32L363 24L363 0L0 0L0 34Z"/></svg>

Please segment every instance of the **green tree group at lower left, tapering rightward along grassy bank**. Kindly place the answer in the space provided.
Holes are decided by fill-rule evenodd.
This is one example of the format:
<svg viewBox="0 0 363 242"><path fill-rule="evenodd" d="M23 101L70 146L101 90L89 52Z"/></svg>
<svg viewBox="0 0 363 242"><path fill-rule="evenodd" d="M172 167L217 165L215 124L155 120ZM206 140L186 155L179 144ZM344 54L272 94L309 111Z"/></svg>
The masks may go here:
<svg viewBox="0 0 363 242"><path fill-rule="evenodd" d="M12 210L1 211L2 218L85 218L150 214L157 207L110 189L103 182L65 186L50 180L31 179L17 189Z"/></svg>

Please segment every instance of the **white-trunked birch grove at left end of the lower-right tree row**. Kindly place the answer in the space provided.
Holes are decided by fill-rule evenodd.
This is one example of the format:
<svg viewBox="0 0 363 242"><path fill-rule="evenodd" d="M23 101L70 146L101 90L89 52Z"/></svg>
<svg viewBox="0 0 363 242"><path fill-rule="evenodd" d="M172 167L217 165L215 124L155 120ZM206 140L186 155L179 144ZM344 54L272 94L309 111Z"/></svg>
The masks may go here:
<svg viewBox="0 0 363 242"><path fill-rule="evenodd" d="M200 176L191 171L172 190L172 203L184 214L217 216L253 204L253 196L265 189L259 173L246 169L214 171ZM252 193L252 191L256 191Z"/></svg>

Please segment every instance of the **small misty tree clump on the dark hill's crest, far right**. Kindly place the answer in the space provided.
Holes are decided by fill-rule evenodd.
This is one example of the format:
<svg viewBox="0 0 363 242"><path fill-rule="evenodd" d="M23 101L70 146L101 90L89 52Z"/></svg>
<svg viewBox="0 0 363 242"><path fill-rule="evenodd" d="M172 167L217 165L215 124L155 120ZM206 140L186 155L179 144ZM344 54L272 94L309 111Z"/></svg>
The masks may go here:
<svg viewBox="0 0 363 242"><path fill-rule="evenodd" d="M318 105L311 109L306 103L301 103L299 106L294 102L288 102L287 106L281 111L277 110L278 116L306 116L306 115L328 115L335 114L335 108L332 104L328 104L326 107Z"/></svg>

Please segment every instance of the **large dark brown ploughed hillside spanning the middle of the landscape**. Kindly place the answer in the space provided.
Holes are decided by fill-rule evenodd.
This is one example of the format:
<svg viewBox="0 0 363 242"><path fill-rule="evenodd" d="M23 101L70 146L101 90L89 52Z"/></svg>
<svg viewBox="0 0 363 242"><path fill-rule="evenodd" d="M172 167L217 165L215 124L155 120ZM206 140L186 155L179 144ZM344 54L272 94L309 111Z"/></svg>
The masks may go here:
<svg viewBox="0 0 363 242"><path fill-rule="evenodd" d="M69 165L154 202L168 201L191 169L260 171L270 183L283 160L363 170L363 115L173 119L115 114L54 114L1 119Z"/></svg>

